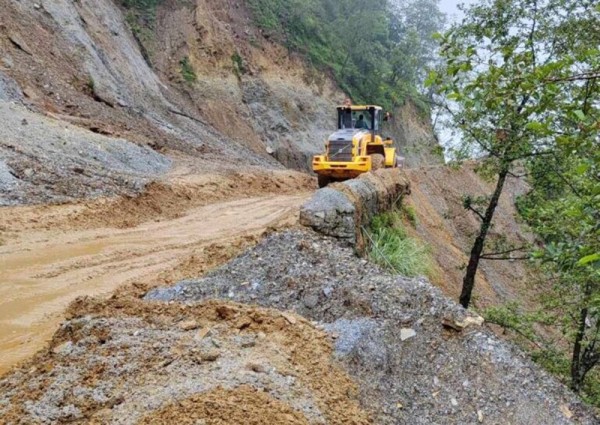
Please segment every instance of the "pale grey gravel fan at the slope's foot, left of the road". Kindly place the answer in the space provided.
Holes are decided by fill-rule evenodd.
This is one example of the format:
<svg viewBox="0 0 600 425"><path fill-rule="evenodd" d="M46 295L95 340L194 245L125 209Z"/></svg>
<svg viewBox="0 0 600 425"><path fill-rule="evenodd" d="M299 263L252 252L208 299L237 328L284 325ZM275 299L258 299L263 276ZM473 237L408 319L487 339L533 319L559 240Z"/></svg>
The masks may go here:
<svg viewBox="0 0 600 425"><path fill-rule="evenodd" d="M0 101L0 206L133 194L170 168L144 146Z"/></svg>

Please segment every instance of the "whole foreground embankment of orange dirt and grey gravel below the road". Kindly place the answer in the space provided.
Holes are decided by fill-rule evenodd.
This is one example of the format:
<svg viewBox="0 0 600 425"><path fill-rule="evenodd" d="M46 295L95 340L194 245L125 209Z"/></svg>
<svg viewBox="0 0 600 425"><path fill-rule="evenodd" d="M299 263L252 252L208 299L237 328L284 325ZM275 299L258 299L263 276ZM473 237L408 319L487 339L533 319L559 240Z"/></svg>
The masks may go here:
<svg viewBox="0 0 600 425"><path fill-rule="evenodd" d="M488 330L444 327L465 311L428 282L312 232L271 235L203 278L145 293L73 304L50 347L0 380L0 415L235 423L243 400L249 423L271 412L310 424L597 423Z"/></svg>

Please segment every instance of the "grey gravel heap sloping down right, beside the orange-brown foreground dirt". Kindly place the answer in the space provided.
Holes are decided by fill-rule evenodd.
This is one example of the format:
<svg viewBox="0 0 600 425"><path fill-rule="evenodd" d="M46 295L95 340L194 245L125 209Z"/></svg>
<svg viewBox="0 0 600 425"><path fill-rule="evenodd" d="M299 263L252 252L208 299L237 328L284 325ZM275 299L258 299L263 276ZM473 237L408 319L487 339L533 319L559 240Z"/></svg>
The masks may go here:
<svg viewBox="0 0 600 425"><path fill-rule="evenodd" d="M272 235L206 277L146 298L218 298L317 321L379 424L598 423L565 386L484 327L445 328L465 311L426 280L391 275L312 232Z"/></svg>

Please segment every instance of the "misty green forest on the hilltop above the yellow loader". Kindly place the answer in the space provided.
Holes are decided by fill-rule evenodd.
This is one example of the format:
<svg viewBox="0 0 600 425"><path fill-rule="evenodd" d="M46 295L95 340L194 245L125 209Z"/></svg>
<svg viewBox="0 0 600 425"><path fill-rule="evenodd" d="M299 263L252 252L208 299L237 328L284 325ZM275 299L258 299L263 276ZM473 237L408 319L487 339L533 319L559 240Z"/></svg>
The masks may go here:
<svg viewBox="0 0 600 425"><path fill-rule="evenodd" d="M444 24L439 0L249 0L263 33L330 72L355 102L390 109L410 97ZM420 105L425 109L423 103Z"/></svg>

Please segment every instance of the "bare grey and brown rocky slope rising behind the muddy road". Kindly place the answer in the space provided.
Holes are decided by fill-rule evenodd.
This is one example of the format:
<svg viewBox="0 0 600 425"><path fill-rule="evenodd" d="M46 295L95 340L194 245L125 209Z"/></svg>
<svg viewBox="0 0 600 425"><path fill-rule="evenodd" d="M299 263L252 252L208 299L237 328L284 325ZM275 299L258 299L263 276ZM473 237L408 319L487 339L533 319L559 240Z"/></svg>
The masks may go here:
<svg viewBox="0 0 600 425"><path fill-rule="evenodd" d="M0 7L0 104L13 104L0 110L4 205L139 190L168 161L153 154L156 166L140 170L135 163L147 151L138 157L132 144L167 157L180 152L198 173L307 170L345 97L265 38L239 0L159 2L144 24L114 0L0 0ZM28 114L23 108L43 115L33 120L38 132L17 119ZM436 161L427 120L411 105L395 117L389 132L400 146L420 146L418 154L405 149L409 163ZM79 129L57 143L73 128L59 128L66 124ZM99 160L98 149L114 155ZM69 160L58 164L47 152ZM112 157L124 155L131 168Z"/></svg>

